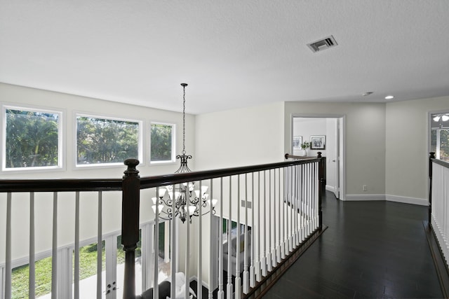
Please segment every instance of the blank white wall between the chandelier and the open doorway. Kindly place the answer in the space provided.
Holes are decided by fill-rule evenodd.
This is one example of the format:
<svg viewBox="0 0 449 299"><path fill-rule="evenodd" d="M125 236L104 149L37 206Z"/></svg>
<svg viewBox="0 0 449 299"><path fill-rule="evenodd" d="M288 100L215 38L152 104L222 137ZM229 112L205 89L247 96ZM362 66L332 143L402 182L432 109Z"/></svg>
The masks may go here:
<svg viewBox="0 0 449 299"><path fill-rule="evenodd" d="M283 161L283 103L196 116L196 167L215 169Z"/></svg>

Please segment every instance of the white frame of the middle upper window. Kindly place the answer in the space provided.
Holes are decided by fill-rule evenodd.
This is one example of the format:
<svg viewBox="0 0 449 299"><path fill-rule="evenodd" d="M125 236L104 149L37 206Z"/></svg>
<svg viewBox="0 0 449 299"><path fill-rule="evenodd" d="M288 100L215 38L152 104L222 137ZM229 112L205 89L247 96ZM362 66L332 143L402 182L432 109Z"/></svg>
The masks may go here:
<svg viewBox="0 0 449 299"><path fill-rule="evenodd" d="M116 120L121 122L130 122L138 124L138 160L143 161L143 121L139 119L131 118L120 118L116 116L102 115L102 114L92 114L84 112L74 112L74 169L91 169L91 168L105 168L105 167L117 167L123 166L123 161L121 162L111 162L111 163L94 163L94 164L78 164L78 118L99 118L105 120ZM140 165L144 165L140 163Z"/></svg>

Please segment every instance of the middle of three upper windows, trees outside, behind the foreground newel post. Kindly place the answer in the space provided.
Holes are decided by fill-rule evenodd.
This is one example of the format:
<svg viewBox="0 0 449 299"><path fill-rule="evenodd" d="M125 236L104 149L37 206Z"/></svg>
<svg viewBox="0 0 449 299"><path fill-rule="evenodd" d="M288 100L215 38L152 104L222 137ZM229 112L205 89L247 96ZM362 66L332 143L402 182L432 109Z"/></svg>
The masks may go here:
<svg viewBox="0 0 449 299"><path fill-rule="evenodd" d="M140 122L76 116L76 166L140 159Z"/></svg>

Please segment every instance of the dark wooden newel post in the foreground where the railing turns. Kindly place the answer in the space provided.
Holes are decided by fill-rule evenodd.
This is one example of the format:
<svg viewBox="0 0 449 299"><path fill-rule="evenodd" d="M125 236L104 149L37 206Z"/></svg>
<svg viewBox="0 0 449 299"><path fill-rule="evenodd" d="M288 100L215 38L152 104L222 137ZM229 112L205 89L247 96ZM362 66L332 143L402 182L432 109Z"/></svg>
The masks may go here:
<svg viewBox="0 0 449 299"><path fill-rule="evenodd" d="M123 299L135 299L135 249L139 242L140 176L137 159L125 160L121 199L121 244L125 251Z"/></svg>

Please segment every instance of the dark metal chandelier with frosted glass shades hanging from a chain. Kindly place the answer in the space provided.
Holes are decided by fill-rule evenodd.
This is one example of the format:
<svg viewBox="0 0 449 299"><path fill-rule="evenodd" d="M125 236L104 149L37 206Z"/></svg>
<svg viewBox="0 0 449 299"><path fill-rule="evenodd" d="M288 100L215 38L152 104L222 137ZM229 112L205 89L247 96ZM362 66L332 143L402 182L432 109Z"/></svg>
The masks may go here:
<svg viewBox="0 0 449 299"><path fill-rule="evenodd" d="M187 160L192 159L192 155L187 155L185 151L185 87L187 83L181 83L182 86L182 152L181 155L177 155L176 159L180 159L181 165L175 173L191 172L187 165ZM201 215L212 212L215 215L215 204L217 200L208 200L208 186L199 186L195 188L195 183L180 183L175 186L167 186L166 188L159 188L156 197L152 197L153 206L152 209L156 214L156 205L159 218L164 220L170 220L175 217L179 217L184 223L187 218L192 222L192 216L199 216L199 207L205 208L209 205L208 211L201 211ZM173 207L173 202L175 203ZM157 203L157 204L156 204ZM174 209L174 210L173 210Z"/></svg>

